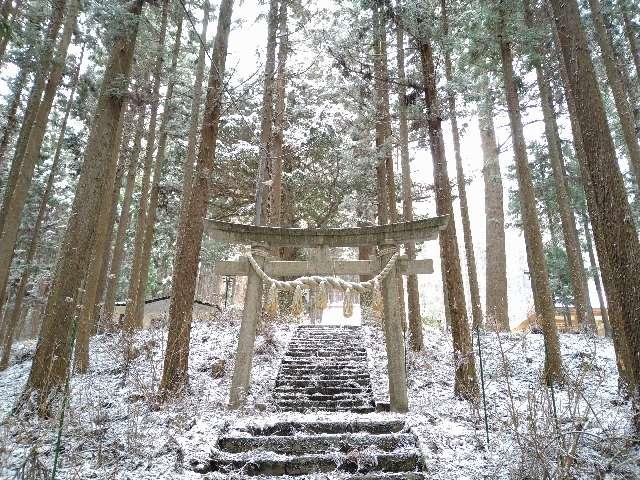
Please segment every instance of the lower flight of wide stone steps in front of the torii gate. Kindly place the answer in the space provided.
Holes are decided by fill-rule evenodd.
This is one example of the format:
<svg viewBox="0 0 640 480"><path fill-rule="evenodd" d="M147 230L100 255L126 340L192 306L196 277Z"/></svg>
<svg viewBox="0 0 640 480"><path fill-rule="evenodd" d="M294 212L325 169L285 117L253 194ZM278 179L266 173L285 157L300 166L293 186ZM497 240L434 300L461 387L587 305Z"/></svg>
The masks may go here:
<svg viewBox="0 0 640 480"><path fill-rule="evenodd" d="M339 415L339 414L337 414ZM193 464L213 478L295 476L301 479L422 480L424 463L404 420L290 421L242 425L218 440L210 458Z"/></svg>

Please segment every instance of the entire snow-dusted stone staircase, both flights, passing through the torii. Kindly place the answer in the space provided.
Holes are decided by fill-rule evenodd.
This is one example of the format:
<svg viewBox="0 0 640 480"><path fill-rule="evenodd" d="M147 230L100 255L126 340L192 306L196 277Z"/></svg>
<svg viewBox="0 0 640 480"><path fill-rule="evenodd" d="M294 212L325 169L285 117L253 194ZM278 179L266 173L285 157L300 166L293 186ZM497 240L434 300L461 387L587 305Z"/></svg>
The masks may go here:
<svg viewBox="0 0 640 480"><path fill-rule="evenodd" d="M404 419L371 413L362 335L359 327L299 327L276 381L282 412L227 427L193 470L212 479L425 479L418 439Z"/></svg>

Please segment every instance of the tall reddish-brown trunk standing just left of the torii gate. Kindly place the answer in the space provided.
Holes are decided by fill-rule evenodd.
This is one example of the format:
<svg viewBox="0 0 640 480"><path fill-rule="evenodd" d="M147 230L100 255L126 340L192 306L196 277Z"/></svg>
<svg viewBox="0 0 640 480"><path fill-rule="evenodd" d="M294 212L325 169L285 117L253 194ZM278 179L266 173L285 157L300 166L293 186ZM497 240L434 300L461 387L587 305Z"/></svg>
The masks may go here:
<svg viewBox="0 0 640 480"><path fill-rule="evenodd" d="M165 394L182 390L188 380L191 315L204 231L204 217L207 213L209 200L210 172L213 170L215 162L232 11L233 0L222 0L216 38L213 44L213 61L202 118L200 147L193 177L194 184L184 212L185 220L180 222L180 231L178 232L180 239L176 242L178 251L176 252L171 287L169 332L160 384L160 390Z"/></svg>

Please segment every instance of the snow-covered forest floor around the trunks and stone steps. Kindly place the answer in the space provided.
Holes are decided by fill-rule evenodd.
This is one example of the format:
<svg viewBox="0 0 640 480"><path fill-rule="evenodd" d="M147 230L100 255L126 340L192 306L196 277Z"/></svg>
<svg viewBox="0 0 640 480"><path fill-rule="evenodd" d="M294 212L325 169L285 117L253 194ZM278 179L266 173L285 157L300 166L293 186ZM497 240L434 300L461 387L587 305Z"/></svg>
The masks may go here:
<svg viewBox="0 0 640 480"><path fill-rule="evenodd" d="M226 424L247 417L256 422L322 418L278 413L271 401L293 323L262 330L256 340L247 407L240 412L226 409L238 318L237 311L227 311L216 319L194 321L189 392L165 404L156 396L165 325L137 335L137 356L126 376L120 336L94 337L89 373L74 375L71 381L57 478L202 479L190 470L190 462L208 456ZM383 336L371 326L364 333L374 392L382 399L387 388ZM640 449L631 438L629 403L618 396L610 340L561 335L567 381L554 389L555 416L551 391L540 382L542 336L484 333L481 341L488 448L482 403L472 405L453 394L451 336L427 329L424 351L408 354L411 413L406 419L420 439L430 478L640 478ZM0 373L2 479L47 478L37 474L50 471L53 462L58 419L10 415L26 382L34 349L34 341L17 344L9 368ZM351 415L324 416L335 420ZM206 478L225 477L209 474Z"/></svg>

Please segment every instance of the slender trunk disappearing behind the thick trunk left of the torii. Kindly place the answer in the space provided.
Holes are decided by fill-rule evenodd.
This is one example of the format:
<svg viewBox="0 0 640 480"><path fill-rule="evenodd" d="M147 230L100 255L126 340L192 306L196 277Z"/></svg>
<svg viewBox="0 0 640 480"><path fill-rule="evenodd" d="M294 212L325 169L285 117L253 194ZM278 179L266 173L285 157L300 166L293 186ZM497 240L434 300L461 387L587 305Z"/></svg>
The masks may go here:
<svg viewBox="0 0 640 480"><path fill-rule="evenodd" d="M193 100L191 101L191 114L189 118L191 123L189 124L189 136L187 139L187 155L184 161L184 171L182 179L182 195L180 196L180 220L184 218L183 211L191 195L191 184L193 182L193 164L196 159L196 147L198 136L198 125L200 124L200 102L202 101L202 80L204 79L204 67L205 67L205 44L207 42L207 29L209 28L209 12L210 12L209 0L204 1L202 31L200 32L200 38L202 43L198 50L198 64L196 66L196 76L193 82Z"/></svg>

